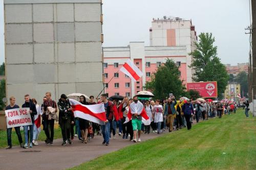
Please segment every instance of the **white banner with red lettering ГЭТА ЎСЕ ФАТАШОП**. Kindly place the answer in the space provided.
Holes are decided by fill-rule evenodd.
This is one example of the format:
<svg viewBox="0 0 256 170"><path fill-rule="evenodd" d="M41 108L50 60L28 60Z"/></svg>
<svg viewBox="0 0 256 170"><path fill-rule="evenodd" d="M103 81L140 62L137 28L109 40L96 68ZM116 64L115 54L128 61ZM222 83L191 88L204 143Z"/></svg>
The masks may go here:
<svg viewBox="0 0 256 170"><path fill-rule="evenodd" d="M5 111L7 128L32 125L29 108L10 109Z"/></svg>

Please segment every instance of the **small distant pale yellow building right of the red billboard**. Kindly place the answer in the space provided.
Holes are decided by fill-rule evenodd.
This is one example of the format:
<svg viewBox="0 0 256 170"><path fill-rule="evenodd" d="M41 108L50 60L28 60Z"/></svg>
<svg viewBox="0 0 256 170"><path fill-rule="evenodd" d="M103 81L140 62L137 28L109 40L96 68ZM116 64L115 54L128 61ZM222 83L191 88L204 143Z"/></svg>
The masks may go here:
<svg viewBox="0 0 256 170"><path fill-rule="evenodd" d="M233 101L240 94L241 86L239 83L228 83L225 89L224 98ZM243 97L242 94L241 98Z"/></svg>

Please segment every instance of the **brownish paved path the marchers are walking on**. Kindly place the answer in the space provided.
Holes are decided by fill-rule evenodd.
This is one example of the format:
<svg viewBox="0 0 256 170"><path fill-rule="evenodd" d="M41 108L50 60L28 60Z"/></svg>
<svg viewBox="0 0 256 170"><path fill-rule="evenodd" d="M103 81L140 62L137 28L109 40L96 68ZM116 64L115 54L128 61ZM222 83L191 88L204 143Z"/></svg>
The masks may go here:
<svg viewBox="0 0 256 170"><path fill-rule="evenodd" d="M156 133L143 134L141 139L145 141L161 135ZM117 151L127 145L137 144L129 139L122 139L118 135L116 135L116 139L110 141L109 146L102 145L102 141L102 136L96 136L87 144L81 143L80 140L75 138L72 145L61 146L62 140L56 139L53 141L53 146L40 142L39 145L30 149L22 149L18 146L13 147L11 150L0 149L0 169L66 169L106 153ZM25 153L21 151L40 152Z"/></svg>

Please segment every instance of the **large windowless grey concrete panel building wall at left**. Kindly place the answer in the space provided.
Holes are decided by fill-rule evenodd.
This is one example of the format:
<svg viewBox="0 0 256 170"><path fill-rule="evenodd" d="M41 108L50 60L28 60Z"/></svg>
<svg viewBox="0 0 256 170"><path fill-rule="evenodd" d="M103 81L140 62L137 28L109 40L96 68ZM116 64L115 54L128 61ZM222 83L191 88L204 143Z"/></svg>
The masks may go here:
<svg viewBox="0 0 256 170"><path fill-rule="evenodd" d="M29 93L98 94L102 84L101 0L4 0L7 98Z"/></svg>

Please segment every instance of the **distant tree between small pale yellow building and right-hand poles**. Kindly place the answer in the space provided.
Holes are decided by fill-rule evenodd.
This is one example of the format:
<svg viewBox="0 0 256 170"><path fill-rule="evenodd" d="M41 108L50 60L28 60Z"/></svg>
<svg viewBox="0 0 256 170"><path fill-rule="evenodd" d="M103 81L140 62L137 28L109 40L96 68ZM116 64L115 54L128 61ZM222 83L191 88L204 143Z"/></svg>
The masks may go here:
<svg viewBox="0 0 256 170"><path fill-rule="evenodd" d="M246 98L248 98L248 75L246 74L245 71L239 72L239 74L237 75L236 78L234 78L234 81L240 83L241 86L241 90L240 90L240 94L241 97L244 93L243 96L245 96Z"/></svg>

